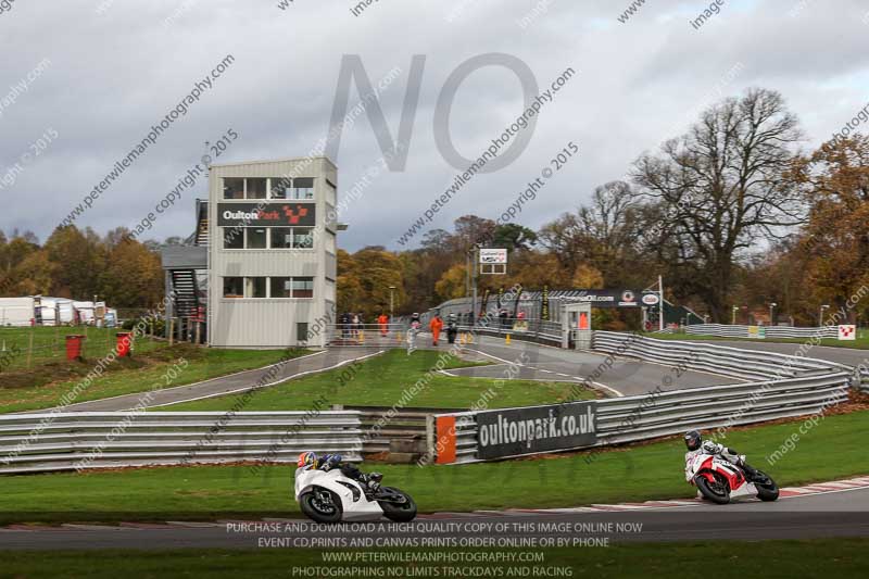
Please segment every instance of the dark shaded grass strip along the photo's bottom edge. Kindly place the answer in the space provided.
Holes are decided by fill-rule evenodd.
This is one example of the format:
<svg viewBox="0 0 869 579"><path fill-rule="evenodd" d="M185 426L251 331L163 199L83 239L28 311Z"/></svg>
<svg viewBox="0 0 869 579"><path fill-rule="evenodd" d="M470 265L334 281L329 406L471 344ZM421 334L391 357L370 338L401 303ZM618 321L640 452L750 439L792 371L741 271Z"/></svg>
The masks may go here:
<svg viewBox="0 0 869 579"><path fill-rule="evenodd" d="M533 576L534 569L563 569L557 577L572 570L572 577L672 578L691 571L717 579L765 579L794 577L867 577L869 574L869 539L818 539L810 541L716 541L693 543L618 544L593 549L522 550L542 553L543 563L408 563L406 577L459 577L466 570L490 569L486 577ZM395 552L378 550L377 552ZM459 551L459 550L456 550ZM452 551L451 551L452 552ZM499 553L513 552L502 550ZM331 577L391 577L385 563L337 564L325 562L323 551L285 550L202 550L175 551L101 550L93 551L13 551L0 553L4 577L47 578L137 578L209 577L318 577L317 570L348 569L347 575ZM305 570L293 568L304 567ZM352 571L350 567L364 570ZM434 574L434 569L438 572ZM449 570L448 570L449 569ZM452 570L452 575L450 574ZM416 575L411 575L416 571ZM553 572L550 571L550 572ZM379 575L381 572L382 575ZM545 574L539 576L544 577Z"/></svg>

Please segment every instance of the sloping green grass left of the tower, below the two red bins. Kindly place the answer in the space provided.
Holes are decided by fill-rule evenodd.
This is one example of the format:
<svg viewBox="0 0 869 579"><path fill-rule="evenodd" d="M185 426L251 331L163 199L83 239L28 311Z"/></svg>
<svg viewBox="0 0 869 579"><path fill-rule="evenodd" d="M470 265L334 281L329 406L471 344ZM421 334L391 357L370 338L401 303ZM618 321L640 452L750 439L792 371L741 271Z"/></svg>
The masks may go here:
<svg viewBox="0 0 869 579"><path fill-rule="evenodd" d="M99 400L121 394L144 392L155 388L173 388L225 376L245 369L260 368L286 357L308 354L307 350L213 350L190 344L165 347L148 354L136 353L130 358L117 358L106 367L105 374L95 379L75 402ZM179 361L187 361L184 365ZM0 414L49 408L78 385L95 367L95 362L64 363L62 367L47 369L47 375L27 376L24 386L10 387L0 374ZM176 367L177 377L166 378L168 369ZM61 377L61 379L58 379ZM15 378L22 378L15 376ZM28 386L28 382L51 380ZM11 380L11 378L10 378Z"/></svg>

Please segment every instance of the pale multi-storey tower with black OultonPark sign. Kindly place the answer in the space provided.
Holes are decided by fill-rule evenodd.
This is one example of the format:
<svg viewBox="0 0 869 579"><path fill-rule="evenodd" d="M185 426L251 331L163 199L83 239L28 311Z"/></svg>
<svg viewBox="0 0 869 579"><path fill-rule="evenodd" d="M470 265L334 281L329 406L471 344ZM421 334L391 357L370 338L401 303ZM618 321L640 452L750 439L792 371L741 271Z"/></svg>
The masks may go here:
<svg viewBox="0 0 869 579"><path fill-rule="evenodd" d="M337 167L326 158L212 165L207 340L324 345L335 322Z"/></svg>

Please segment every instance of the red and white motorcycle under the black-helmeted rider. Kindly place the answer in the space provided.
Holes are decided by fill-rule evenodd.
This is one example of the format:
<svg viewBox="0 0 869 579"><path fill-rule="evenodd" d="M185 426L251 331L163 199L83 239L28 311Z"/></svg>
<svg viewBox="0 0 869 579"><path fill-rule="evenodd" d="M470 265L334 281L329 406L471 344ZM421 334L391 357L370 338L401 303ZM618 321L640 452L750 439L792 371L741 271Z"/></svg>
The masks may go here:
<svg viewBox="0 0 869 579"><path fill-rule="evenodd" d="M761 501L779 498L779 487L766 473L758 470L750 481L739 466L704 452L685 457L685 480L694 484L704 499L719 505L729 503L735 496L756 495Z"/></svg>

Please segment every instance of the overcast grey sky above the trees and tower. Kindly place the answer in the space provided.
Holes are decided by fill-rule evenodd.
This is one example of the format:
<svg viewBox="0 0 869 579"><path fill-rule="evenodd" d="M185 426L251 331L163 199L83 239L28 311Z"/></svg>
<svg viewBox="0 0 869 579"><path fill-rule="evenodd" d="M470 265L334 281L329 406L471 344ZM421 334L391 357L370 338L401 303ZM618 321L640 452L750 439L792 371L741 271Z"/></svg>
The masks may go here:
<svg viewBox="0 0 869 579"><path fill-rule="evenodd" d="M577 74L543 106L521 155L476 176L426 228L467 213L495 218L572 141L578 156L516 218L537 228L621 178L704 103L746 87L784 96L806 148L869 101L865 1L726 0L698 29L690 21L709 2L646 0L626 23L618 16L630 0L379 0L358 15L351 0L280 2L0 0L0 228L45 240L227 54L235 61L212 88L76 225L134 227L199 162L204 142L230 128L239 137L216 162L308 154L328 131L344 54L357 54L373 83L400 72L380 95L393 138L412 58L426 56L404 171L370 171L382 152L365 114L343 131L339 196L376 174L341 215L350 229L339 244L351 251L408 247L396 240L452 182L456 168L434 140L436 103L450 74L480 54L516 56L541 90L568 67ZM21 83L26 91L14 88ZM354 86L350 106L358 100ZM452 141L477 158L522 109L516 74L481 68L455 95ZM188 236L193 199L206 191L200 180L182 192L147 237Z"/></svg>

